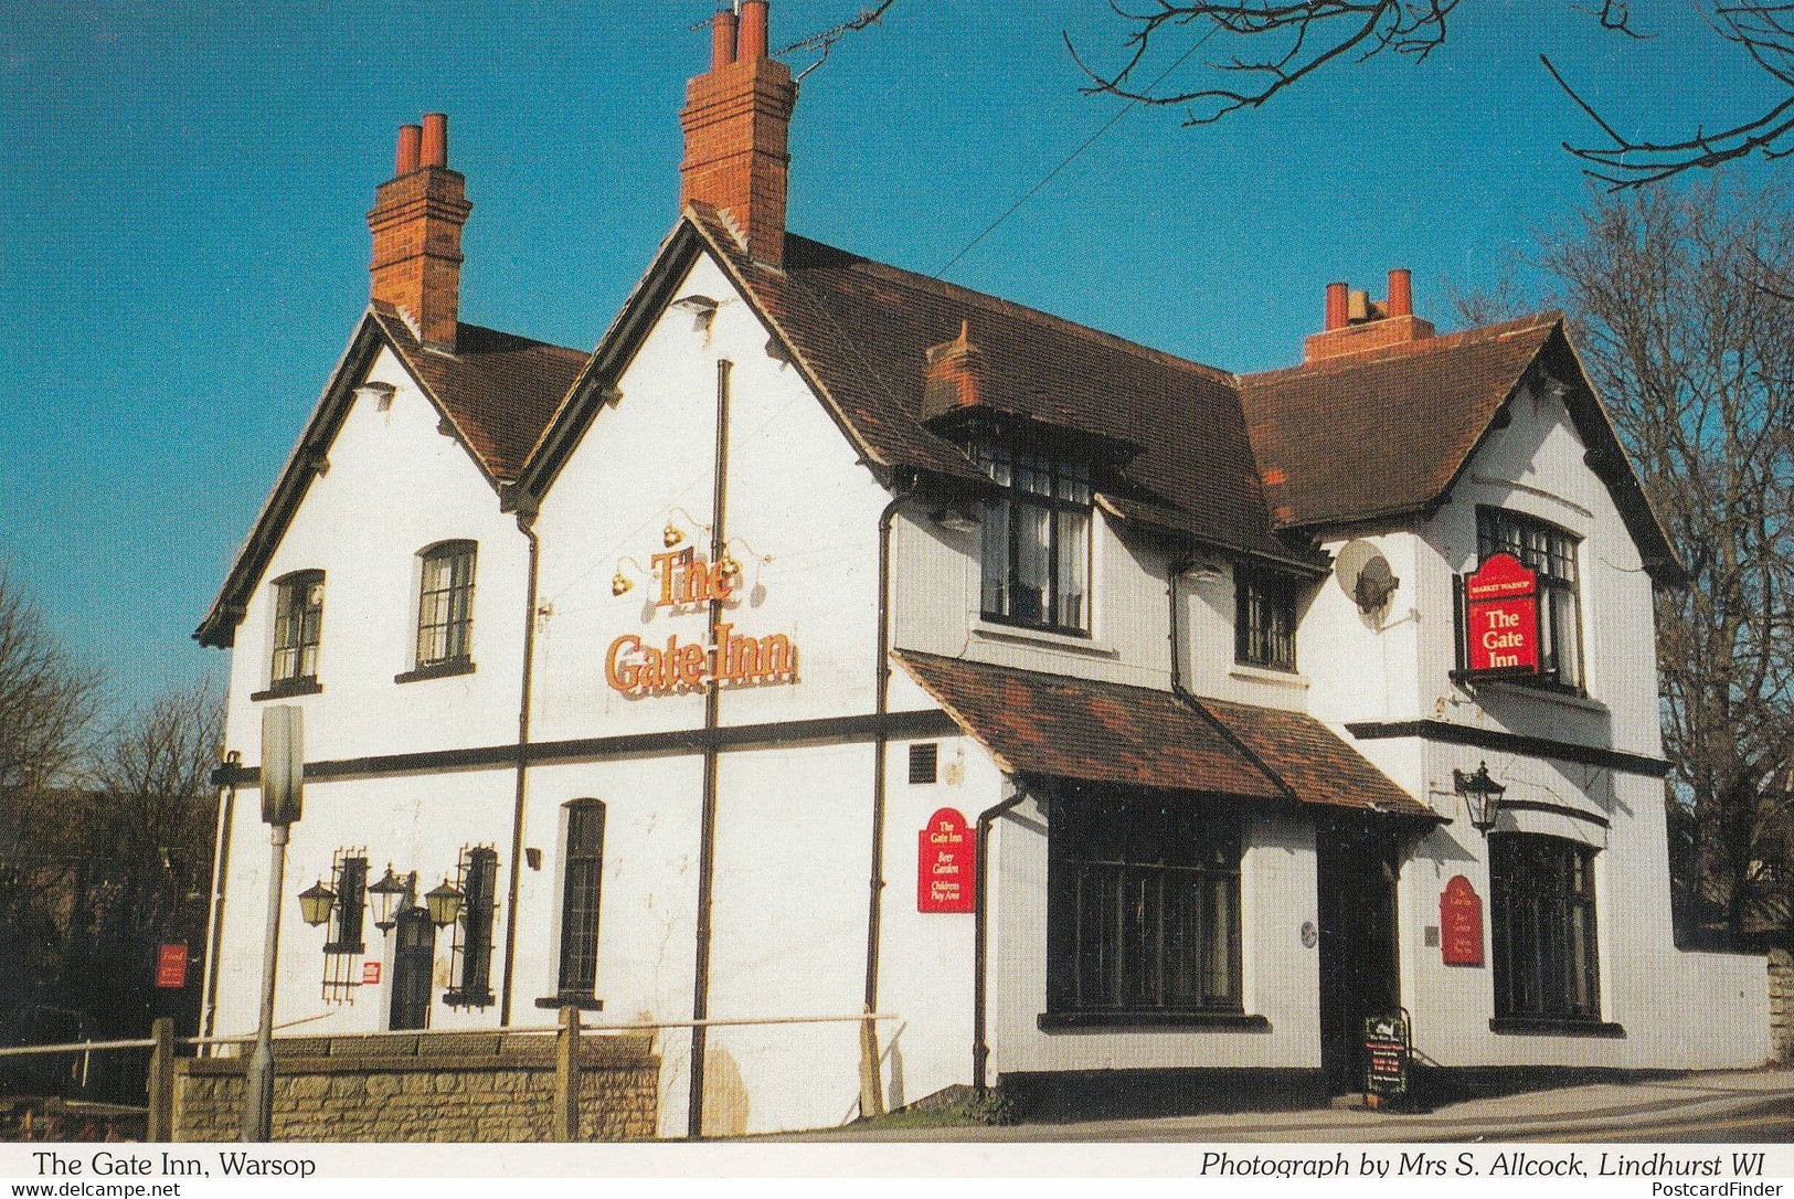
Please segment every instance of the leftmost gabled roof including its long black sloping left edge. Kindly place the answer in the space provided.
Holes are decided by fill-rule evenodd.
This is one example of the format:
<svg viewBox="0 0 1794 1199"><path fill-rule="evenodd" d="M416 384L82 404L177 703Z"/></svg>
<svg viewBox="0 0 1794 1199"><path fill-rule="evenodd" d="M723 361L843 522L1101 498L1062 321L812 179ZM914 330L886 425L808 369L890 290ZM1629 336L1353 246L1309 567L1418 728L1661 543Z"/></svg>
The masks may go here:
<svg viewBox="0 0 1794 1199"><path fill-rule="evenodd" d="M230 646L269 558L285 537L292 513L327 461L330 443L366 379L375 357L389 348L416 381L418 389L456 433L481 474L502 494L522 470L524 454L560 406L587 355L579 350L517 337L479 325L459 325L456 352L423 348L396 309L375 303L350 337L348 350L330 372L318 406L305 422L298 445L287 456L274 490L262 504L249 537L237 549L230 574L219 589L194 639L206 646Z"/></svg>

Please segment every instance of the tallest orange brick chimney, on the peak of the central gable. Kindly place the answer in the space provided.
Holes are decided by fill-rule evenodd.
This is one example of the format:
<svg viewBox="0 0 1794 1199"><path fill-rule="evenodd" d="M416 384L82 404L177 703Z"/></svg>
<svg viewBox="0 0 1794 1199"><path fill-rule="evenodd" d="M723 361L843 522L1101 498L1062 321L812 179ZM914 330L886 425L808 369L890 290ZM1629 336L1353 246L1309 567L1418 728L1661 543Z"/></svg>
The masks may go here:
<svg viewBox="0 0 1794 1199"><path fill-rule="evenodd" d="M768 56L766 0L721 11L710 31L710 70L685 84L685 162L680 205L694 199L728 214L748 255L784 262L786 142L797 84Z"/></svg>

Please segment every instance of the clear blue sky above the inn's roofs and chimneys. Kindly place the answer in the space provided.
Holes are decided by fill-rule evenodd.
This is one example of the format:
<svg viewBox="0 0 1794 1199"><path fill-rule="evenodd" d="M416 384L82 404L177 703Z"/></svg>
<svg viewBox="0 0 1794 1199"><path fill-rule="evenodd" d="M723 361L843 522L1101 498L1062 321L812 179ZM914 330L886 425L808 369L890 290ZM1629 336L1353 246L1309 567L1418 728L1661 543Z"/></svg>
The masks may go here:
<svg viewBox="0 0 1794 1199"><path fill-rule="evenodd" d="M773 43L863 2L775 0ZM0 5L0 564L118 702L224 670L188 634L366 303L396 127L450 115L463 319L590 348L675 219L710 11ZM1392 266L1444 325L1448 285L1491 284L1584 196L1559 142L1591 129L1541 50L1629 131L1767 95L1692 5L1634 13L1656 39L1466 0L1421 65L1200 129L1136 109L949 278L1231 370L1292 363L1328 280L1381 294ZM1103 0L897 0L804 81L791 228L938 269L1114 115L1062 32L1119 54Z"/></svg>

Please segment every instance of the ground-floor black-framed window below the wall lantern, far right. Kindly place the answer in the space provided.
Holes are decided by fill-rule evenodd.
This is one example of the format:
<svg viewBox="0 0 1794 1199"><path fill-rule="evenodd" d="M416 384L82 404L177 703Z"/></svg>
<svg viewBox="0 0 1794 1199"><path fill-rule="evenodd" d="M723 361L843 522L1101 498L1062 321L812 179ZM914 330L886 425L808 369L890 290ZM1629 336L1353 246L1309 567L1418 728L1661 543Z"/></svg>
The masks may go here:
<svg viewBox="0 0 1794 1199"><path fill-rule="evenodd" d="M1498 1020L1600 1020L1595 849L1559 836L1489 838Z"/></svg>

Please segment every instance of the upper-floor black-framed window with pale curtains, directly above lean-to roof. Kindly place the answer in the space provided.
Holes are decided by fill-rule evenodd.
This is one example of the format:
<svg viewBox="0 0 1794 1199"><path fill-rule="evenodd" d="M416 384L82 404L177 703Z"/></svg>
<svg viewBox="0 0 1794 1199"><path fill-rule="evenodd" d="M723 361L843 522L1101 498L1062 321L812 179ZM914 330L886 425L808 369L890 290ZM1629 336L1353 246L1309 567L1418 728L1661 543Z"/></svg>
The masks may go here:
<svg viewBox="0 0 1794 1199"><path fill-rule="evenodd" d="M983 443L978 465L1003 486L980 524L983 616L1089 632L1091 476L1084 463Z"/></svg>

